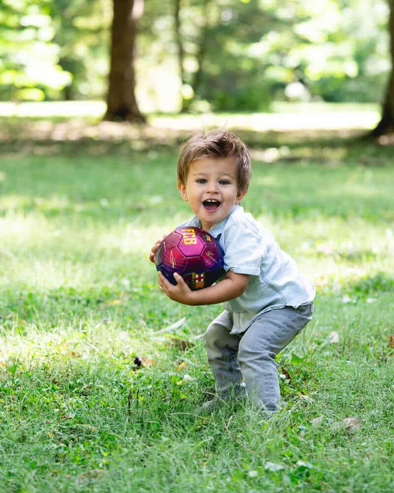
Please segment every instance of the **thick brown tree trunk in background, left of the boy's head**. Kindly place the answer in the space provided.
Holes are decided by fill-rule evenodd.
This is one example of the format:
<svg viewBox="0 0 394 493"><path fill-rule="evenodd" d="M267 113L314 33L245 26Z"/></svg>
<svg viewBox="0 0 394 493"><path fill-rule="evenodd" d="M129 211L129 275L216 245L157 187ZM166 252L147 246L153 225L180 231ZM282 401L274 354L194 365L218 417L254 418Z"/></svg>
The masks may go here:
<svg viewBox="0 0 394 493"><path fill-rule="evenodd" d="M135 99L134 45L143 0L113 0L111 69L104 120L145 122Z"/></svg>

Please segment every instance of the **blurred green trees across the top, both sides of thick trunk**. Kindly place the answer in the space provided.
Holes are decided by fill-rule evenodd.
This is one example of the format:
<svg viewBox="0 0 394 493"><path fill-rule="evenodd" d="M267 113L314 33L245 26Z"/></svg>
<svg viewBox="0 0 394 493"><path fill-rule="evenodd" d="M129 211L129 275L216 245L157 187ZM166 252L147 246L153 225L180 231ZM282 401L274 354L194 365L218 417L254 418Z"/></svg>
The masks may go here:
<svg viewBox="0 0 394 493"><path fill-rule="evenodd" d="M0 0L0 99L105 99L117 1L133 4ZM113 33L129 46L135 35L133 57L118 58L135 69L136 115L381 102L392 1L150 0L137 24Z"/></svg>

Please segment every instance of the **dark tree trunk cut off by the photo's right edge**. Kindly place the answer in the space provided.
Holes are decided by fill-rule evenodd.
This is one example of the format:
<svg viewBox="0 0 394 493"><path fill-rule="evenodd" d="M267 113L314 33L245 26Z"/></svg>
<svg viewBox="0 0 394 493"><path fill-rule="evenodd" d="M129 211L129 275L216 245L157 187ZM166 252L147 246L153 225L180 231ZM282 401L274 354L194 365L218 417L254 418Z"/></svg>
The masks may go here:
<svg viewBox="0 0 394 493"><path fill-rule="evenodd" d="M382 117L377 127L372 130L372 137L379 137L390 132L394 132L394 0L389 0L390 17L390 53L392 60L391 74L387 84L386 96L382 107Z"/></svg>

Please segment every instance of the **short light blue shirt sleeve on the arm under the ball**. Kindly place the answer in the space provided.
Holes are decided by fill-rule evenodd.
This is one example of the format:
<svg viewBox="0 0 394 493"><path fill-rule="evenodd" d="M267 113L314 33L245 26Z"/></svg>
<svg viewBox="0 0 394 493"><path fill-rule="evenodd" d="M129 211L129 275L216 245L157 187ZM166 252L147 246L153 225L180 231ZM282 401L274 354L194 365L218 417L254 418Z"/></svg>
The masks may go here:
<svg viewBox="0 0 394 493"><path fill-rule="evenodd" d="M248 224L232 225L224 238L225 271L259 276L266 246L258 230Z"/></svg>

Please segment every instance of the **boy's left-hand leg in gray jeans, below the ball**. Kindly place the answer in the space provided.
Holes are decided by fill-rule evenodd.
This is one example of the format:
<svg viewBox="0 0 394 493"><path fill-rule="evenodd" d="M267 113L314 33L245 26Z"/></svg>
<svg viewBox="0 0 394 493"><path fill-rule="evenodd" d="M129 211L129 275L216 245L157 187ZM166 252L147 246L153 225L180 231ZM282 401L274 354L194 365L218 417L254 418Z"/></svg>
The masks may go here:
<svg viewBox="0 0 394 493"><path fill-rule="evenodd" d="M230 335L232 314L222 312L206 329L204 334L208 362L215 378L217 395L226 399L231 394L244 392L242 374L237 361L239 335Z"/></svg>

